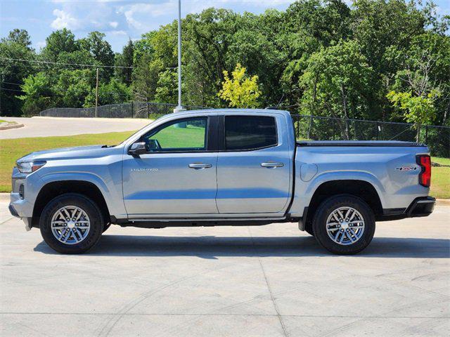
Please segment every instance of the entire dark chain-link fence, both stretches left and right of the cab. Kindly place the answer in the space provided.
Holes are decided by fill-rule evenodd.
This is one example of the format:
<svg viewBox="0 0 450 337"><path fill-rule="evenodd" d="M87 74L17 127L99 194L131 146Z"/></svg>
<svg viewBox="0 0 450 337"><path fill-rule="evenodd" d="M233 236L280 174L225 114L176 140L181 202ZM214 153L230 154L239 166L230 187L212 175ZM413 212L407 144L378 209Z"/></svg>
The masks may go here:
<svg viewBox="0 0 450 337"><path fill-rule="evenodd" d="M40 113L45 117L100 117L156 119L174 111L175 104L131 102L101 107L52 107ZM187 110L205 109L188 106ZM450 158L450 127L422 126L387 121L364 121L333 117L293 114L295 133L299 140L404 140L425 143L433 156Z"/></svg>

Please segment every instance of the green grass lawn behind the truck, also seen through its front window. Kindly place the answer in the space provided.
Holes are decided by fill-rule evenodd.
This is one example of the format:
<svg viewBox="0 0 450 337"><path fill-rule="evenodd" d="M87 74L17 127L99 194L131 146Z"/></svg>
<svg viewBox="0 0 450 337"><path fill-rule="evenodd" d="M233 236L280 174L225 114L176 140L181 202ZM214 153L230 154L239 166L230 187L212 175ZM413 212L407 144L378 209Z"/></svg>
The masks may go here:
<svg viewBox="0 0 450 337"><path fill-rule="evenodd" d="M168 133L158 133L157 138L162 147L176 147L179 142L186 147L203 146L203 131L199 128L188 127L186 129L176 129L177 135L180 137L172 138ZM94 135L78 135L63 137L38 137L38 138L19 138L0 140L0 192L11 191L11 171L15 165L15 160L23 157L33 151L53 149L56 147L82 146L107 144L115 145L128 136L133 131L113 132L113 133L97 133ZM190 136L192 144L186 143L186 136ZM152 137L153 138L153 137ZM439 164L450 165L450 159L432 157L432 161ZM450 199L450 167L432 167L431 191L433 197L439 199Z"/></svg>

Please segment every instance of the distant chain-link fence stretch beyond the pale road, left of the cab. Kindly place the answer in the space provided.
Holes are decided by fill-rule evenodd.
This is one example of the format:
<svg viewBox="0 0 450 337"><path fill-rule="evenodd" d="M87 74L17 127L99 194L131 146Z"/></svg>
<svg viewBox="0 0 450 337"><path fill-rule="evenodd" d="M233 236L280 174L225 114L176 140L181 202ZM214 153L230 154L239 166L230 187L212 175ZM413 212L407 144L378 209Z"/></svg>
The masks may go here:
<svg viewBox="0 0 450 337"><path fill-rule="evenodd" d="M102 105L101 107L51 107L41 111L43 117L98 117L98 118L151 118L174 112L176 104L131 102ZM203 109L203 107L188 106L187 110Z"/></svg>

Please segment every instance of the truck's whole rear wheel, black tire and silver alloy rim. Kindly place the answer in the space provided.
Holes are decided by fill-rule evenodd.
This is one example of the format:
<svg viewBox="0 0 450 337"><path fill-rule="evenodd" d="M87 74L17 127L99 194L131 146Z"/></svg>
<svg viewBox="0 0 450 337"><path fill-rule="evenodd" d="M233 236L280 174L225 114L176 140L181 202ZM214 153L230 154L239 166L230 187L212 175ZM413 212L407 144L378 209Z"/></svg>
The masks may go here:
<svg viewBox="0 0 450 337"><path fill-rule="evenodd" d="M364 200L339 194L322 202L314 214L312 227L323 248L335 254L355 254L371 243L375 216Z"/></svg>

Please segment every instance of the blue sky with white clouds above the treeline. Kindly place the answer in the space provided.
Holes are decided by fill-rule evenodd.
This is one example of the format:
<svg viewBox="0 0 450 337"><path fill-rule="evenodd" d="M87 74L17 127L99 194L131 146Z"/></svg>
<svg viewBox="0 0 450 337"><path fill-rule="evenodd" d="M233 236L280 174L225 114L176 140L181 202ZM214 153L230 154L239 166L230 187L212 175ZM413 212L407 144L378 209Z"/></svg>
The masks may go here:
<svg viewBox="0 0 450 337"><path fill-rule="evenodd" d="M205 8L228 8L238 13L285 10L293 0L181 0L181 15ZM351 3L352 0L346 0ZM440 14L450 15L450 0L435 0ZM0 0L0 37L14 28L27 29L39 51L56 29L68 28L77 38L98 30L106 34L113 51L122 51L129 39L176 19L178 0Z"/></svg>

